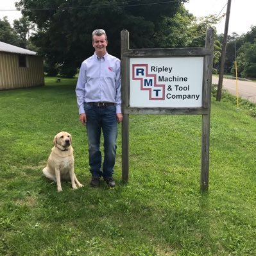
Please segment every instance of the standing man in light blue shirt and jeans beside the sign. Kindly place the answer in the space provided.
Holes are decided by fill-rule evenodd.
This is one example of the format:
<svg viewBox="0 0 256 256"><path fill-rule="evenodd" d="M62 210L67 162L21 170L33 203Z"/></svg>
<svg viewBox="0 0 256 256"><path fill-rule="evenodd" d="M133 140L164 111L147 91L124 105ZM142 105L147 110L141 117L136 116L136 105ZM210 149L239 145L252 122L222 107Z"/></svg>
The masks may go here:
<svg viewBox="0 0 256 256"><path fill-rule="evenodd" d="M76 85L80 121L87 128L89 165L92 187L99 187L101 176L110 186L113 178L117 123L121 123L120 60L107 53L108 40L104 30L92 32L94 55L84 60ZM104 137L104 160L101 168L100 137Z"/></svg>

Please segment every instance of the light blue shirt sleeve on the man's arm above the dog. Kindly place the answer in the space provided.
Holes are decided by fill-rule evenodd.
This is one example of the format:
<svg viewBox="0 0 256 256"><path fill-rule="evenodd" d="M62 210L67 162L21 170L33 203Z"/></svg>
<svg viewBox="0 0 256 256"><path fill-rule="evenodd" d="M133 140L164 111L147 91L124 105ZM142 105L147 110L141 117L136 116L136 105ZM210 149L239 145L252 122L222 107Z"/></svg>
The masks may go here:
<svg viewBox="0 0 256 256"><path fill-rule="evenodd" d="M76 83L76 101L78 103L79 114L85 113L83 103L85 101L85 83L86 83L86 67L83 62L78 74L78 81Z"/></svg>

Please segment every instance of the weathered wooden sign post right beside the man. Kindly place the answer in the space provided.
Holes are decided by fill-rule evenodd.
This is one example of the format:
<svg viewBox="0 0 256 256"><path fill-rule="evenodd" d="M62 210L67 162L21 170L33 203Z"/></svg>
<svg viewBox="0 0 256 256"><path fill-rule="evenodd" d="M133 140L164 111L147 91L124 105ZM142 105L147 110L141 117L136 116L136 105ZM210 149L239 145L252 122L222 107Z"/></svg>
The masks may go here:
<svg viewBox="0 0 256 256"><path fill-rule="evenodd" d="M128 182L129 178L129 114L125 113L125 109L129 107L129 60L127 56L123 56L123 50L129 49L129 32L121 31L121 70L122 70L122 179Z"/></svg>

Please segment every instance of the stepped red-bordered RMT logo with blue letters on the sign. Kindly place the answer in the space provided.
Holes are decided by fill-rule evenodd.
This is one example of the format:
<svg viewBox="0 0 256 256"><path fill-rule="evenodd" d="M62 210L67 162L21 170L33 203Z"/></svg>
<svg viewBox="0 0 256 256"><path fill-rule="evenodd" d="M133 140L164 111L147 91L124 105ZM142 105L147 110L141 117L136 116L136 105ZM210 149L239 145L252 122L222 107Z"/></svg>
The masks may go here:
<svg viewBox="0 0 256 256"><path fill-rule="evenodd" d="M132 80L139 80L141 90L149 91L149 100L164 100L165 85L157 85L157 75L148 74L148 64L133 64Z"/></svg>

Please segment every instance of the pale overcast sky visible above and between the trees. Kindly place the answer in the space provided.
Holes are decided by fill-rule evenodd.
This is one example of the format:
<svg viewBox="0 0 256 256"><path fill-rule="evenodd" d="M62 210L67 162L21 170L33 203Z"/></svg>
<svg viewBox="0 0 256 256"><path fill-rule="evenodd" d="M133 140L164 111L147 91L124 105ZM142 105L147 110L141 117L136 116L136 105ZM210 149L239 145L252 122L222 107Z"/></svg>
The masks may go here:
<svg viewBox="0 0 256 256"><path fill-rule="evenodd" d="M21 12L15 11L15 2L17 0L0 0L0 19L8 17L12 25L14 19L21 18ZM205 17L210 14L221 15L226 13L226 3L228 0L189 0L185 8L196 17ZM8 11L3 11L8 10ZM256 26L256 1L255 0L232 0L230 10L230 20L228 26L228 35L236 32L242 35L250 31L251 26ZM225 17L216 25L218 34L224 33Z"/></svg>

